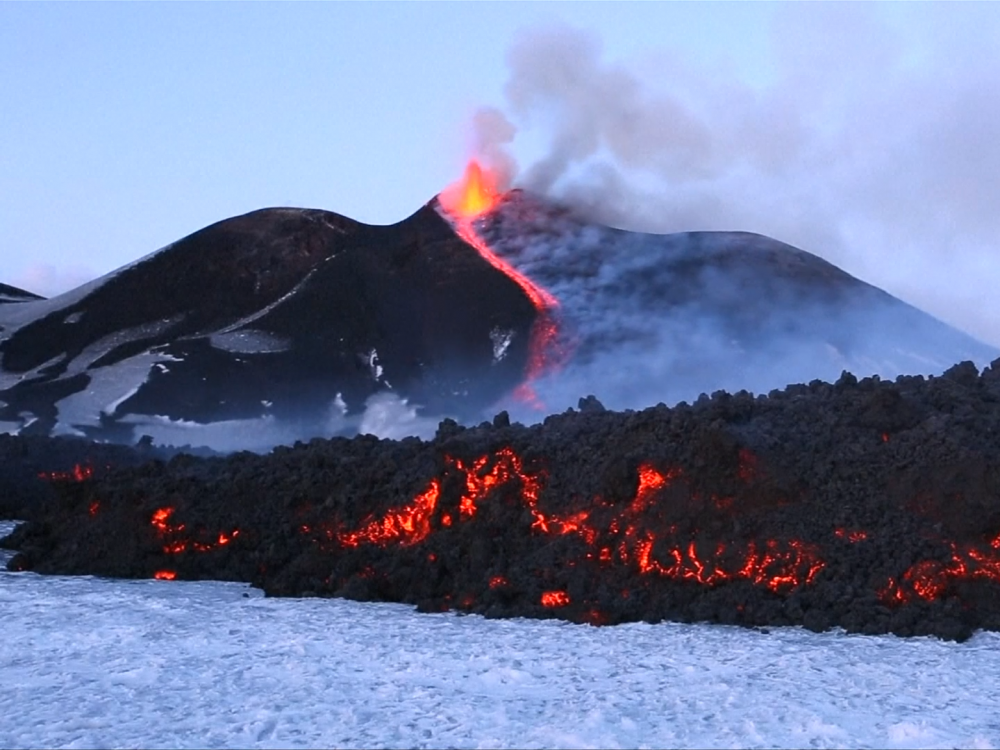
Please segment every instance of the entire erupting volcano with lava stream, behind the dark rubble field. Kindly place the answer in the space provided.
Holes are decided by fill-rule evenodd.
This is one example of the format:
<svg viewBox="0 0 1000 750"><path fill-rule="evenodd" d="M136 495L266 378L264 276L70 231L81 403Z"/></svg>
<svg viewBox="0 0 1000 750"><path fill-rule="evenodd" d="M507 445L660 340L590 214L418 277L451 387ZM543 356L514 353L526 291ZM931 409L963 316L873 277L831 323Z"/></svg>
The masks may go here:
<svg viewBox="0 0 1000 750"><path fill-rule="evenodd" d="M391 226L254 211L0 306L0 425L260 450L998 355L767 237L628 232L519 190L465 213L445 196Z"/></svg>

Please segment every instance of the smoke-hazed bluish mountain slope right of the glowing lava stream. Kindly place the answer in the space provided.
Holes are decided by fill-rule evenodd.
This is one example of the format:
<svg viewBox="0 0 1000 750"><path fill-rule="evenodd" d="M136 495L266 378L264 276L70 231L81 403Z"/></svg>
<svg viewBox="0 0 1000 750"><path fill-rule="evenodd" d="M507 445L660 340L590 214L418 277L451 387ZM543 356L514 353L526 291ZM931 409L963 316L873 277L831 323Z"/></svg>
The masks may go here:
<svg viewBox="0 0 1000 750"><path fill-rule="evenodd" d="M614 408L726 389L937 374L1000 354L827 261L748 232L597 226L520 191L479 232L561 301L574 355L537 384L550 409Z"/></svg>

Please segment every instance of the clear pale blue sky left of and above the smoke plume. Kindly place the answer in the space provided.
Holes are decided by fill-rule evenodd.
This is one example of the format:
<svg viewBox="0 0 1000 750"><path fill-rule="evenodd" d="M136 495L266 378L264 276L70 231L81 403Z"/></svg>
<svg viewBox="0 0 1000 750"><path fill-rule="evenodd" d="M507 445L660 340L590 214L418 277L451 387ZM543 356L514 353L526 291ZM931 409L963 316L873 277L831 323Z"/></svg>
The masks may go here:
<svg viewBox="0 0 1000 750"><path fill-rule="evenodd" d="M269 205L398 221L460 172L521 27L747 55L766 6L0 4L0 275L109 271ZM715 28L715 31L706 33ZM739 42L731 50L732 45ZM46 290L50 291L50 290Z"/></svg>

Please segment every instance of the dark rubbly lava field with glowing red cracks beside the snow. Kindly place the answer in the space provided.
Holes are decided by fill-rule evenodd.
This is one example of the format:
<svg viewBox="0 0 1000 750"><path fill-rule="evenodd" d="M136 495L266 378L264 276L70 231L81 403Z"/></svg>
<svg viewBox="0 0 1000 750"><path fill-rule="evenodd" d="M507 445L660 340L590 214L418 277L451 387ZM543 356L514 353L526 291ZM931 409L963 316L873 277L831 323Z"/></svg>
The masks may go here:
<svg viewBox="0 0 1000 750"><path fill-rule="evenodd" d="M579 406L63 472L9 567L599 625L1000 630L1000 359Z"/></svg>

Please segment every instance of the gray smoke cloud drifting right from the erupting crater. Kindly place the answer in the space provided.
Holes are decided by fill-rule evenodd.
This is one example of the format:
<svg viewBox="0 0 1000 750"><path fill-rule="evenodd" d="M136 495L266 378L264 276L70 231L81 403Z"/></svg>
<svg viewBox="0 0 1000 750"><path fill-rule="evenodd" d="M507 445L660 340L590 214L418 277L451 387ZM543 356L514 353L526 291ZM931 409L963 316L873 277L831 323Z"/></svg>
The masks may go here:
<svg viewBox="0 0 1000 750"><path fill-rule="evenodd" d="M641 74L596 34L526 31L480 150L594 221L775 237L1000 344L997 13L921 5L902 28L878 11L782 6L756 84L668 55ZM529 135L545 151L518 171Z"/></svg>

